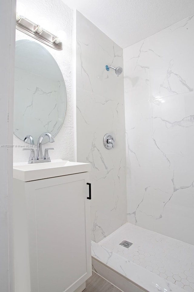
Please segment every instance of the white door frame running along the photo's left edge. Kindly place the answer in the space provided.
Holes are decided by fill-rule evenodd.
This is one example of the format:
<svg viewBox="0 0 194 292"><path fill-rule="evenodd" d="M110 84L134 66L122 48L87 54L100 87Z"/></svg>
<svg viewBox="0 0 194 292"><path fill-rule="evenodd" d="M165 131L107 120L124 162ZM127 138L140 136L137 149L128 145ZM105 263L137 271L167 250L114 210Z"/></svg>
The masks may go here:
<svg viewBox="0 0 194 292"><path fill-rule="evenodd" d="M0 2L0 146L13 144L15 1ZM0 147L0 290L14 291L12 148Z"/></svg>

